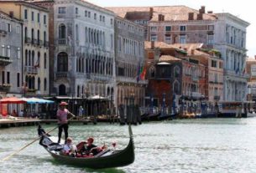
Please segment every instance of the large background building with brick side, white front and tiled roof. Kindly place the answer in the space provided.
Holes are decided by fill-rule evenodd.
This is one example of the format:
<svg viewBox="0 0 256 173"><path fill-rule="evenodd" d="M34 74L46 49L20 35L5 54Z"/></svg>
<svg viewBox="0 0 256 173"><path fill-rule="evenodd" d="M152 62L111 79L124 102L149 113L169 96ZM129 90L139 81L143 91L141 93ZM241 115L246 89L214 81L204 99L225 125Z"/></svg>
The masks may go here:
<svg viewBox="0 0 256 173"><path fill-rule="evenodd" d="M213 13L185 6L108 8L123 18L148 24L148 40L165 43L204 43L222 54L224 100L243 100L247 75L246 28L249 23L230 13ZM146 15L147 14L147 15ZM142 23L144 25L144 23Z"/></svg>

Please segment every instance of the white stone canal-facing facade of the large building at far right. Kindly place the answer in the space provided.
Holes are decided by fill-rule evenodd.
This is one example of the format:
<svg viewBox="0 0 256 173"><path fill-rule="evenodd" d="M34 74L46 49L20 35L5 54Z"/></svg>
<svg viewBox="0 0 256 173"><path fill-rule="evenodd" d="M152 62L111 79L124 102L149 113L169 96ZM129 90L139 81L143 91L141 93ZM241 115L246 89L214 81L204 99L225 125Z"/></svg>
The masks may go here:
<svg viewBox="0 0 256 173"><path fill-rule="evenodd" d="M246 99L246 28L249 23L230 13L216 13L214 48L222 53L224 62L224 100Z"/></svg>

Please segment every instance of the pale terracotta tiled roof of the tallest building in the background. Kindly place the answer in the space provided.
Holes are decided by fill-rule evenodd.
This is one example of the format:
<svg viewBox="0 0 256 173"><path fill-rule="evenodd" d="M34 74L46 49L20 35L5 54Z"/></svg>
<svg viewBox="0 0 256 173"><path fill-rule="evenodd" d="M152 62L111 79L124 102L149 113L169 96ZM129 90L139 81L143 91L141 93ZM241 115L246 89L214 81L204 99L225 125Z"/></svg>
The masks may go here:
<svg viewBox="0 0 256 173"><path fill-rule="evenodd" d="M188 8L186 6L153 6L153 7L107 7L107 9L112 10L117 13L122 18L126 17L128 12L150 12L150 8L153 8L153 16L150 21L158 21L159 14L165 16L165 21L187 21L188 13L194 13L194 20L199 13L198 10ZM203 13L203 20L216 20L217 17L213 13Z"/></svg>

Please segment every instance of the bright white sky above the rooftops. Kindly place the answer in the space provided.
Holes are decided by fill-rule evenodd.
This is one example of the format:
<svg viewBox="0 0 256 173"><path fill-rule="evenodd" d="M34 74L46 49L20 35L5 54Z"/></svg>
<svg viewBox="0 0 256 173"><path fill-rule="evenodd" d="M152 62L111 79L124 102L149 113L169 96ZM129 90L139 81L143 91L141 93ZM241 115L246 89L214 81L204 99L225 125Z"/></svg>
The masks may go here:
<svg viewBox="0 0 256 173"><path fill-rule="evenodd" d="M206 6L213 13L231 13L250 23L247 28L248 56L256 55L256 8L253 0L87 0L101 7L139 7L139 6L172 6L185 5L199 9ZM255 12L255 13L254 13Z"/></svg>

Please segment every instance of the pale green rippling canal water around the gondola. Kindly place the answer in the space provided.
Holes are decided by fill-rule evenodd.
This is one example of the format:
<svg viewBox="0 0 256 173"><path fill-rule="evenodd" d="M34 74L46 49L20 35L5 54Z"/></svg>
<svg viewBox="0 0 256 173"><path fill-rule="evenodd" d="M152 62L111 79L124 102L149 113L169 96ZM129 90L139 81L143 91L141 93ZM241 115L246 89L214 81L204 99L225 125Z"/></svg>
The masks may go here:
<svg viewBox="0 0 256 173"><path fill-rule="evenodd" d="M55 125L44 125L51 130ZM94 136L96 144L112 141L117 149L128 144L128 126L70 125L75 142ZM57 130L52 135L56 135ZM133 126L135 161L132 165L91 170L61 165L38 142L0 162L0 172L256 172L256 118L198 119L150 122ZM0 158L36 138L36 127L0 129Z"/></svg>

